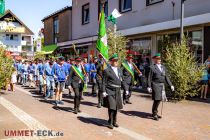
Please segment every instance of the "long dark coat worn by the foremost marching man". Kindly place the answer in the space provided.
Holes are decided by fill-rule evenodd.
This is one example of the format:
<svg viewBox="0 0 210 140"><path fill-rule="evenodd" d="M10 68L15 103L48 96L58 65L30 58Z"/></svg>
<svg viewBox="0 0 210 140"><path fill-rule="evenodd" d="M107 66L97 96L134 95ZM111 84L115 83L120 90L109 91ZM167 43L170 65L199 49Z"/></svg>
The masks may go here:
<svg viewBox="0 0 210 140"><path fill-rule="evenodd" d="M103 92L106 92L108 96L104 98L104 100L108 102L108 107L110 109L122 109L122 99L121 99L121 91L120 88L113 88L110 85L118 85L121 86L122 84L122 71L118 68L119 78L116 76L112 68L109 66L107 69L104 70L103 76Z"/></svg>

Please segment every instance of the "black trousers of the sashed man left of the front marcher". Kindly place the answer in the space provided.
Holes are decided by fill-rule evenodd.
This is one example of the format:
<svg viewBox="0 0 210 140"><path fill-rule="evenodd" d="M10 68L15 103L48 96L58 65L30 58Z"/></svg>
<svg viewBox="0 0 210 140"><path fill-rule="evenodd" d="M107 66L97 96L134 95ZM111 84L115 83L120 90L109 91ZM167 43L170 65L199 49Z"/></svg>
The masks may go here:
<svg viewBox="0 0 210 140"><path fill-rule="evenodd" d="M83 86L80 84L78 88L73 88L74 89L74 109L79 110L80 103L81 103L81 98L82 98L82 91L83 91Z"/></svg>

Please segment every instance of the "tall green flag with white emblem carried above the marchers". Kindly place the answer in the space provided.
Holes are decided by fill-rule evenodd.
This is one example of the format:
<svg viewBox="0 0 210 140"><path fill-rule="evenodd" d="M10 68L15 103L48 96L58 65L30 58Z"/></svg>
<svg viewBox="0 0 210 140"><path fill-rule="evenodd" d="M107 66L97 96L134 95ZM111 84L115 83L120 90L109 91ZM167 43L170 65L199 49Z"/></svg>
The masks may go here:
<svg viewBox="0 0 210 140"><path fill-rule="evenodd" d="M102 9L100 14L100 22L99 22L99 34L98 40L96 44L97 50L103 55L103 57L108 60L108 45L107 45L107 34L106 34L106 23L105 23L105 14Z"/></svg>

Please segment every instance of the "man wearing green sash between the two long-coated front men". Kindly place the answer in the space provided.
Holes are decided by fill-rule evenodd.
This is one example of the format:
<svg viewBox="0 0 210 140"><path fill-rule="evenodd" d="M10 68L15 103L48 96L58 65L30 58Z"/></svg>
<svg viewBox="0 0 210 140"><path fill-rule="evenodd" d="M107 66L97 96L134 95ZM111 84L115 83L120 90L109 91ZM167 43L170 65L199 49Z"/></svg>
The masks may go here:
<svg viewBox="0 0 210 140"><path fill-rule="evenodd" d="M123 73L123 104L131 104L130 97L132 93L132 88L135 85L135 77L134 74L137 73L141 76L141 72L137 67L134 66L133 63L133 55L128 54L127 60L122 63L122 73Z"/></svg>

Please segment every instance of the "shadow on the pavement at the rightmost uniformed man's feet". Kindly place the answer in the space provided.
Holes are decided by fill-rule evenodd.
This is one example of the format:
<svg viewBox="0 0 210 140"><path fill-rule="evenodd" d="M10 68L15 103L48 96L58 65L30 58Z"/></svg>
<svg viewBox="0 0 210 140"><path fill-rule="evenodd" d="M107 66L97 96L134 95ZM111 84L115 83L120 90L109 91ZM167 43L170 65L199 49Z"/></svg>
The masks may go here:
<svg viewBox="0 0 210 140"><path fill-rule="evenodd" d="M128 116L136 116L136 117L145 118L145 119L152 119L152 114L146 113L146 112L121 110L120 113L128 115Z"/></svg>

